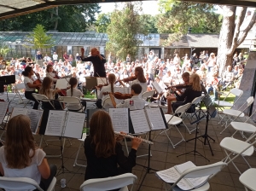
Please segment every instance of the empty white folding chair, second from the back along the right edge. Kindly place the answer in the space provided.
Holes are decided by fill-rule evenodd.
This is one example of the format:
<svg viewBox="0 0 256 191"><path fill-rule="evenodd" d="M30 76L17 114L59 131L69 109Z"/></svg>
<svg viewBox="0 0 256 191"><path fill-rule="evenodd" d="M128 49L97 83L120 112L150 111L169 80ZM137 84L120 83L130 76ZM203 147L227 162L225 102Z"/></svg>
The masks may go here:
<svg viewBox="0 0 256 191"><path fill-rule="evenodd" d="M250 96L247 99L247 101L244 104L242 104L242 106L238 110L236 110L236 109L224 109L223 110L224 117L228 116L228 119L224 122L224 124L225 124L224 130L226 130L230 126L230 124L228 124L229 121L235 121L239 117L243 118L245 110L247 110L247 108L250 107L253 104L253 101L254 101L253 96ZM224 119L224 117L223 117L223 119ZM221 119L218 122L218 124L220 124L223 119ZM224 124L222 124L221 126L223 126ZM222 134L224 130L222 130L219 134Z"/></svg>

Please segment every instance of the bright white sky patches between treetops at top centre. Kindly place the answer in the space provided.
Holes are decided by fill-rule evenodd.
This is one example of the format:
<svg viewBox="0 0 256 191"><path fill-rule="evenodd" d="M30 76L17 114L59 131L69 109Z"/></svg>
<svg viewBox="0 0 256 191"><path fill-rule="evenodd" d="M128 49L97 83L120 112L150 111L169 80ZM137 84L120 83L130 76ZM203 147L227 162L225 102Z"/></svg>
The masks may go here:
<svg viewBox="0 0 256 191"><path fill-rule="evenodd" d="M102 13L107 14L109 12L113 12L114 3L99 3L102 7ZM122 4L122 3L118 3ZM159 14L159 6L158 1L143 1L143 13L144 14Z"/></svg>

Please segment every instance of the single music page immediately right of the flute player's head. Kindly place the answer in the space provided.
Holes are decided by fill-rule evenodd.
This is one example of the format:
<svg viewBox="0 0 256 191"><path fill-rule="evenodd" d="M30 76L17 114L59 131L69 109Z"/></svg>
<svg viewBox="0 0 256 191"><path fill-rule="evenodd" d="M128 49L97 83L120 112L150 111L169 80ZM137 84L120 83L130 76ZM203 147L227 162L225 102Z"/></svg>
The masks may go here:
<svg viewBox="0 0 256 191"><path fill-rule="evenodd" d="M110 108L109 115L114 131L129 133L128 108Z"/></svg>

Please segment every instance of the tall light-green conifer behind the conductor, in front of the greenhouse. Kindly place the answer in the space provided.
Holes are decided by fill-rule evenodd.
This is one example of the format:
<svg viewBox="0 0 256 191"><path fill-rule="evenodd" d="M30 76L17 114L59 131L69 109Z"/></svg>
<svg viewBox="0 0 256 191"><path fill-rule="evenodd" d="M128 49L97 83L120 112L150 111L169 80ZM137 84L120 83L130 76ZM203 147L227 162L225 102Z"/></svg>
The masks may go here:
<svg viewBox="0 0 256 191"><path fill-rule="evenodd" d="M106 49L123 60L128 54L131 55L131 59L135 58L137 46L142 43L138 36L148 34L138 14L142 10L141 4L141 2L125 3L122 10L114 9L111 14Z"/></svg>

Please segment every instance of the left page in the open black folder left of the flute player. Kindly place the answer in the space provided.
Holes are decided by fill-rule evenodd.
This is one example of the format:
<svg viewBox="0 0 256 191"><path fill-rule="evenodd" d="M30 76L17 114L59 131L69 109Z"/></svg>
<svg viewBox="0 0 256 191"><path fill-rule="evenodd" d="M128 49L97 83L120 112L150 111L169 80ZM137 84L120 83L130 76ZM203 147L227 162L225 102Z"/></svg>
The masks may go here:
<svg viewBox="0 0 256 191"><path fill-rule="evenodd" d="M61 136L65 118L66 111L50 110L44 135Z"/></svg>

